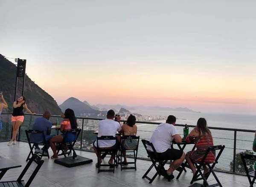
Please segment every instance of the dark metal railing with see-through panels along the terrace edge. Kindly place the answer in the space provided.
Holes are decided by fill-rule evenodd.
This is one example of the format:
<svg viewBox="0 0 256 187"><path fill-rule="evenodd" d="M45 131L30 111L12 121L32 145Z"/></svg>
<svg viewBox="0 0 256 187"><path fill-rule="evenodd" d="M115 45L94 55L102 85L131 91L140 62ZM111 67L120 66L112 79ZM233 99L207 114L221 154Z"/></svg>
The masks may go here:
<svg viewBox="0 0 256 187"><path fill-rule="evenodd" d="M11 115L12 115L11 113L2 113L1 114L1 117L3 119L3 122L2 122L3 123L3 129L0 133L0 141L2 141L2 142L3 141L9 141L9 139L11 138L11 134L10 134ZM18 132L18 137L17 137L18 141L24 141L24 142L26 142L24 131L28 128L32 128L32 124L33 124L34 119L36 117L42 116L42 115L41 114L36 114L36 115L25 114L25 116L29 116L29 118L25 117L25 120L24 120L23 125L21 126L21 128ZM56 115L51 116L51 120L52 119L57 119L57 118L61 119L61 116L56 116ZM91 151L87 147L90 147L89 144L91 144L92 139L96 139L96 135L93 134L93 130L96 130L96 128L97 128L96 123L98 123L102 119L89 118L89 117L77 117L77 119L79 121L79 127L82 129L82 131L81 131L80 137L78 138L77 144L79 144L79 145L76 146L76 149ZM89 122L90 122L89 120L93 121L91 123L91 125L89 124ZM125 122L125 120L121 120L121 122ZM7 124L7 125L5 126L5 124ZM137 121L136 124L159 125L160 122L139 122L139 121ZM10 125L10 126L7 127L8 125ZM195 127L195 125L187 125L187 126L188 127ZM178 130L182 130L182 128L181 129L179 129L179 128L180 127L185 127L185 125L184 124L176 124L176 127L177 127ZM147 129L147 127L145 127L145 128ZM224 168L224 169L220 169L220 170L223 170L224 172L237 173L236 172L236 154L237 154L237 151L252 150L252 143L253 143L254 136L251 133L254 133L254 130L237 129L237 128L224 128L224 127L209 127L209 129L211 129L211 131L212 131L212 136L213 136L214 141L218 142L218 143L215 143L215 144L224 144L224 145L226 145L225 150L227 150L227 157L228 158L223 158L222 162L224 163L224 162L230 161L230 163L233 164L232 167L231 167L232 164L230 165L230 168L233 168L232 170L228 171L227 167ZM215 130L216 130L216 132L214 132ZM6 131L6 132L4 132L4 131ZM152 133L152 132L153 132L153 130L140 129L139 126L138 126L138 133L137 134L140 135L141 139L150 139L151 136L149 136L149 133ZM240 134L241 135L240 139L238 139L238 137L237 137L238 133L241 133ZM250 136L248 136L246 133L250 133ZM3 134L5 136L3 136ZM222 134L223 136L219 136L220 134ZM7 138L7 137L9 137L9 138ZM86 141L85 139L89 139L89 141L85 142ZM233 147L232 147L232 142L233 142ZM240 148L237 147L238 142L243 142L241 144ZM85 144L84 146L83 146L83 143ZM139 149L142 152L141 152L140 155L138 155L138 159L146 159L146 156L143 158L143 153L145 154L144 148L139 147ZM232 151L233 153L231 153L230 151ZM232 155L230 155L228 153L230 153ZM223 155L221 157L223 157ZM230 157L232 159L230 159Z"/></svg>

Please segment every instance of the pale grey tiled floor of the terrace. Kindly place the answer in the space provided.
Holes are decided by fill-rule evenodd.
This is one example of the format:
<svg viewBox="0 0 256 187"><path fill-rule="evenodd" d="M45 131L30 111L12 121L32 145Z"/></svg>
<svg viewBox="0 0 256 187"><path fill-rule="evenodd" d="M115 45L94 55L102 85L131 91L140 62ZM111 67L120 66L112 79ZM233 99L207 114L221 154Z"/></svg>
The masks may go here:
<svg viewBox="0 0 256 187"><path fill-rule="evenodd" d="M29 153L29 146L24 142L17 142L16 145L7 146L7 142L0 143L0 156L9 158L18 164L21 168L11 169L2 178L1 181L16 180L24 166L26 165L26 156ZM82 166L67 168L55 164L52 159L43 157L44 164L38 175L35 177L31 187L141 187L141 186L173 186L188 187L192 178L190 171L183 173L179 180L173 179L168 182L163 177L157 177L152 184L148 184L148 180L141 177L150 166L150 161L137 160L137 171L123 170L118 168L115 173L97 173L95 163L96 156L94 153L86 151L76 151L80 156L93 159L93 163ZM50 152L51 154L51 152ZM25 176L25 181L32 173L32 169ZM153 169L154 171L154 169ZM155 171L154 171L155 172ZM153 173L152 173L153 174ZM227 173L216 172L223 187L248 187L249 182L245 176L237 176ZM177 172L174 173L175 177ZM210 176L210 184L215 181Z"/></svg>

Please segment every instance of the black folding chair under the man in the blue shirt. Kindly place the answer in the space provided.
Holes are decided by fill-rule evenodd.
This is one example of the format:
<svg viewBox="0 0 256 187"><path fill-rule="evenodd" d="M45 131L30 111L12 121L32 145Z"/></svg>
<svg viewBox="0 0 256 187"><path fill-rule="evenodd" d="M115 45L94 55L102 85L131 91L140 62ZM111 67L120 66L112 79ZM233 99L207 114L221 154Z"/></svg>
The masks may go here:
<svg viewBox="0 0 256 187"><path fill-rule="evenodd" d="M30 149L30 152L29 152L29 155L26 159L26 161L28 161L30 158L30 155L33 155L33 149L35 148L35 144L38 144L38 147L39 148L42 148L41 146L46 146L46 141L45 141L45 136L44 136L44 132L43 131L40 131L40 130L25 130L25 133L26 133L26 137L27 137L27 140L28 140L28 143L29 143L29 149ZM31 141L31 138L32 136L34 136L35 138L39 138L39 139L42 139L43 142L35 142L35 141ZM32 138L33 140L33 138ZM33 145L32 145L33 144ZM48 149L45 150L47 152L47 155L44 155L44 152L43 153L37 153L39 156L43 157L43 156L47 156L48 159L50 158L49 157L49 152L48 152Z"/></svg>

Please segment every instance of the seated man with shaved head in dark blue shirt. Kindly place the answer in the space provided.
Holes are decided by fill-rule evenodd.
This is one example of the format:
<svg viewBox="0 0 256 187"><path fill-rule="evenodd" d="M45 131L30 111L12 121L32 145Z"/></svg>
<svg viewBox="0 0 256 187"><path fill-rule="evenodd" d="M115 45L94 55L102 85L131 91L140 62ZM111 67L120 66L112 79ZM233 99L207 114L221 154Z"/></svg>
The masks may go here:
<svg viewBox="0 0 256 187"><path fill-rule="evenodd" d="M31 142L37 142L37 143L44 143L44 139L46 141L46 145L42 148L42 150L39 150L38 144L35 144L35 153L43 153L47 154L47 150L49 149L49 139L52 136L55 136L55 134L51 134L52 130L52 122L50 122L51 113L48 111L44 112L43 117L39 117L35 119L35 122L32 126L32 130L40 130L44 132L45 137L41 136L33 136L33 134L30 135L30 141Z"/></svg>

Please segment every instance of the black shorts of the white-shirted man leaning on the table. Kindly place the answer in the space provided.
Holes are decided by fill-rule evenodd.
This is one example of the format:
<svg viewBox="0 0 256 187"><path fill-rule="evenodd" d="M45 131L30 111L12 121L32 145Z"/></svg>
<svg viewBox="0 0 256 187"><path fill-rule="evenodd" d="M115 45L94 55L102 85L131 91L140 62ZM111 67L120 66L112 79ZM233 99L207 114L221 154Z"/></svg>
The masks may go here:
<svg viewBox="0 0 256 187"><path fill-rule="evenodd" d="M152 154L152 156L154 155L153 152L150 152L150 154ZM181 158L182 154L183 154L182 150L167 149L163 153L157 153L157 157L160 160L177 160L177 159ZM149 155L149 156L151 156L151 155Z"/></svg>

